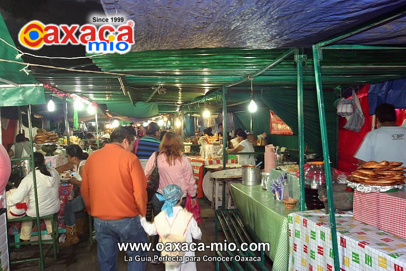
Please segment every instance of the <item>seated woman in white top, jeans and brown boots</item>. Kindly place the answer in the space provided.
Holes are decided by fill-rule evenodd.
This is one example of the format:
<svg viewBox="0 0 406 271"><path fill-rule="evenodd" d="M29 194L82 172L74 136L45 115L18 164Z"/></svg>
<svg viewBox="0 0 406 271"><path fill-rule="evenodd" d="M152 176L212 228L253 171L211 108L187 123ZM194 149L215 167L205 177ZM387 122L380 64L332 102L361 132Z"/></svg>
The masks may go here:
<svg viewBox="0 0 406 271"><path fill-rule="evenodd" d="M80 195L80 185L87 157L88 155L83 153L79 145L72 144L66 147L67 162L73 164L76 171L75 177L69 179L69 182L74 185L74 196L76 197L67 203L64 208L66 240L60 244L61 248L79 243L79 235L83 234L83 210L85 209L85 203L83 202L82 195Z"/></svg>

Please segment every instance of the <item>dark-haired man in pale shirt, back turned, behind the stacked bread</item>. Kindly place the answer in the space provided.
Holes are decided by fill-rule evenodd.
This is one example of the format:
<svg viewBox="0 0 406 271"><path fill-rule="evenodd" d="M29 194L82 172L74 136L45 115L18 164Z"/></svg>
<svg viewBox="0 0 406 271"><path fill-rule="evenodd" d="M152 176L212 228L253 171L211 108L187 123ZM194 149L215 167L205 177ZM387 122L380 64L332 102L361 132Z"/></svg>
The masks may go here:
<svg viewBox="0 0 406 271"><path fill-rule="evenodd" d="M375 111L378 129L366 134L355 158L359 165L367 161L391 161L406 164L406 128L396 126L395 107L380 104Z"/></svg>

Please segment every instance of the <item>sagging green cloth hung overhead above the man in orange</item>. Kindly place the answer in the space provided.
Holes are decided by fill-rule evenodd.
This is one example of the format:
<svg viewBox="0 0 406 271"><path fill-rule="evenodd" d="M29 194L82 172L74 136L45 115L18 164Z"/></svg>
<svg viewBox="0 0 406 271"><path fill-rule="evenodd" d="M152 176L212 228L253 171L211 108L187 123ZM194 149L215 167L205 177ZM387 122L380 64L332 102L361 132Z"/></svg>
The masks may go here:
<svg viewBox="0 0 406 271"><path fill-rule="evenodd" d="M110 112L127 117L143 118L159 114L158 105L156 103L137 102L132 106L130 102L125 102L107 103L106 105Z"/></svg>

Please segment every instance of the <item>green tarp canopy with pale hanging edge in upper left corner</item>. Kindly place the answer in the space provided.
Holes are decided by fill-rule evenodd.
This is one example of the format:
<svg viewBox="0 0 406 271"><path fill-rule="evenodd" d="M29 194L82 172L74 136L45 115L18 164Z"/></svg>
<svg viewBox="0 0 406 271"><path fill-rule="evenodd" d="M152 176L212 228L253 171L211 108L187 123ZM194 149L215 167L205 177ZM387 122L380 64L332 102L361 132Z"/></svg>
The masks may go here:
<svg viewBox="0 0 406 271"><path fill-rule="evenodd" d="M10 45L15 46L6 23L0 14L0 37ZM0 41L0 58L16 61L15 56L19 52ZM22 59L18 60L23 62ZM17 63L0 62L0 84L9 84L2 79L16 84L36 84L37 80L31 75L20 71L23 65ZM16 106L27 104L45 104L45 95L43 86L15 86L0 87L0 106Z"/></svg>

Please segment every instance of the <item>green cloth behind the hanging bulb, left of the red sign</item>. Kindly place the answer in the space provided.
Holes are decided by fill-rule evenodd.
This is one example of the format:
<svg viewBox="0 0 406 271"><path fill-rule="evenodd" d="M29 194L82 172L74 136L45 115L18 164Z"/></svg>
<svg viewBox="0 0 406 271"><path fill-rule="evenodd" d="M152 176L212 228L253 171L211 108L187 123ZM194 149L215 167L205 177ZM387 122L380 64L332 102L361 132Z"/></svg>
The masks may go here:
<svg viewBox="0 0 406 271"><path fill-rule="evenodd" d="M234 115L234 128L250 130L250 113L239 112ZM269 110L257 111L252 114L252 130L255 135L265 132L269 134Z"/></svg>

